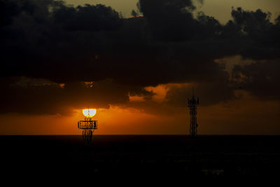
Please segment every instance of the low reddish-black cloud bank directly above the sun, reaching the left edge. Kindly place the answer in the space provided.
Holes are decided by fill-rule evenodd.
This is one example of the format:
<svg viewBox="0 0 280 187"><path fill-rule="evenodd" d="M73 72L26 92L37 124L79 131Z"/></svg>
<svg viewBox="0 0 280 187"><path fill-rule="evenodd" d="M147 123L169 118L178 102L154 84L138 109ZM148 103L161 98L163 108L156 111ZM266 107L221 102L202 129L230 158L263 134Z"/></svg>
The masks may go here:
<svg viewBox="0 0 280 187"><path fill-rule="evenodd" d="M113 80L57 84L27 77L1 78L0 113L70 115L77 108L109 108L129 100L128 90L145 94L142 88L120 85Z"/></svg>

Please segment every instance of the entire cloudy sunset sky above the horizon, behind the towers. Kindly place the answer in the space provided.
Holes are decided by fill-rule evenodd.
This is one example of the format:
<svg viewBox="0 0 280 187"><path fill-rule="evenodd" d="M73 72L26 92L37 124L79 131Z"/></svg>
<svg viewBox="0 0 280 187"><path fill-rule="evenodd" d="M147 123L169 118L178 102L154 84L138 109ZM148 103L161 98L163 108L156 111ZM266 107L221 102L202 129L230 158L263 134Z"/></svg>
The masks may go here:
<svg viewBox="0 0 280 187"><path fill-rule="evenodd" d="M0 0L0 134L280 134L279 1L137 2Z"/></svg>

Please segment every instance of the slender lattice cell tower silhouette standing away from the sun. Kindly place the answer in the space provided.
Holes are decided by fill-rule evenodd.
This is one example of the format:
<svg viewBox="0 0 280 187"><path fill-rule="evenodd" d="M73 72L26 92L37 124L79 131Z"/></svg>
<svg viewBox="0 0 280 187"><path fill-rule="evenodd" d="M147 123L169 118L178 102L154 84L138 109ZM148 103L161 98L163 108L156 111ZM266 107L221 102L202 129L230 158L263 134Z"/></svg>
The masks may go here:
<svg viewBox="0 0 280 187"><path fill-rule="evenodd" d="M197 105L200 104L200 99L195 98L193 89L193 96L188 98L188 108L190 109L190 137L197 135Z"/></svg>

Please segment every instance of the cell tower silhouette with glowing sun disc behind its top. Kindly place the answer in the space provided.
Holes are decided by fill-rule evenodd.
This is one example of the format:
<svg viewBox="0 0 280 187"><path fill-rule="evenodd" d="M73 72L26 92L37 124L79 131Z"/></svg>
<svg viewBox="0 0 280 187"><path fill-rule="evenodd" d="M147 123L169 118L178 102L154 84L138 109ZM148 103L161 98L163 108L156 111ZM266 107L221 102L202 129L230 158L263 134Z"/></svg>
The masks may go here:
<svg viewBox="0 0 280 187"><path fill-rule="evenodd" d="M85 120L78 121L78 129L83 130L83 140L90 144L92 141L92 136L94 130L97 130L97 120L92 120L92 117L95 115L96 109L85 109L83 110L83 115Z"/></svg>

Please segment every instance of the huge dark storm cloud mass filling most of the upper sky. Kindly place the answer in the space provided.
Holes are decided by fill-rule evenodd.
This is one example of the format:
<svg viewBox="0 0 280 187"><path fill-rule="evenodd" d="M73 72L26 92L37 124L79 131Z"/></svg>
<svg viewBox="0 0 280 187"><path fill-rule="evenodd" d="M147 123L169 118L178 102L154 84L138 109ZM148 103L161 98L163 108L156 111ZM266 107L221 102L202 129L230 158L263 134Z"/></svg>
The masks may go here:
<svg viewBox="0 0 280 187"><path fill-rule="evenodd" d="M201 92L212 93L211 102L204 99L205 104L215 104L231 99L236 85L214 60L242 55L279 62L280 17L272 23L269 13L260 10L232 9L233 20L221 25L204 13L195 19L190 0L141 0L144 17L130 19L102 5L75 8L53 0L1 0L0 4L0 72L5 90L1 102L21 111L28 108L27 113L36 113L36 104L47 113L63 113L55 107L86 102L108 107L127 102L129 92L149 98L153 92L144 87L160 83L195 82ZM262 66L267 71L274 68L265 62ZM51 84L11 86L18 81L10 78L22 76ZM80 88L83 81L102 83L102 89ZM176 89L168 93L167 103L178 106L186 91Z"/></svg>

